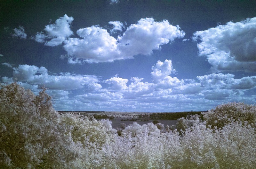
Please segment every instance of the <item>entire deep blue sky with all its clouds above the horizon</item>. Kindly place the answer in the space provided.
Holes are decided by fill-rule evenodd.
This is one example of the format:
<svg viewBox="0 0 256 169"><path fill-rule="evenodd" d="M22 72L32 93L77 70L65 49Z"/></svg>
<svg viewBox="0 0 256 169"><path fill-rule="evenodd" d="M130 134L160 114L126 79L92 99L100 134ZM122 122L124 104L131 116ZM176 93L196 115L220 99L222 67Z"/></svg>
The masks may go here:
<svg viewBox="0 0 256 169"><path fill-rule="evenodd" d="M256 1L0 2L0 80L63 111L256 100Z"/></svg>

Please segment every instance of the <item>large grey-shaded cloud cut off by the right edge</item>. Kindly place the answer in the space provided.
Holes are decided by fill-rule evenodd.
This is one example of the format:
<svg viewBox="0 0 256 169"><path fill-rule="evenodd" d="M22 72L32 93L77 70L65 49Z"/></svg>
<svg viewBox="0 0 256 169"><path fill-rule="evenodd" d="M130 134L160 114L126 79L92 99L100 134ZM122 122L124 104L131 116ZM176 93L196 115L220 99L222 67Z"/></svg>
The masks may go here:
<svg viewBox="0 0 256 169"><path fill-rule="evenodd" d="M197 31L193 39L212 71L256 72L256 17Z"/></svg>

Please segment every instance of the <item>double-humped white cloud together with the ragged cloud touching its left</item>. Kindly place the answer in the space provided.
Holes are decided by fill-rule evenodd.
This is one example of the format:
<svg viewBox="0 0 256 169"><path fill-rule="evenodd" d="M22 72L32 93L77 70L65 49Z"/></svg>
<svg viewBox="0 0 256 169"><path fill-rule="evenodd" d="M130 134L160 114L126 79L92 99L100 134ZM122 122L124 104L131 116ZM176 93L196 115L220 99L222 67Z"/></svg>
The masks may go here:
<svg viewBox="0 0 256 169"><path fill-rule="evenodd" d="M162 45L185 36L179 25L173 26L167 20L156 22L153 18L141 18L124 32L124 24L120 21L108 22L113 25L110 33L123 33L117 39L99 25L78 29L76 34L80 38L69 38L73 34L70 30L72 21L72 17L64 15L55 24L46 25L44 32L37 32L34 39L46 46L64 42L63 47L74 63L78 61L74 58L98 63L131 59L138 54L149 55Z"/></svg>

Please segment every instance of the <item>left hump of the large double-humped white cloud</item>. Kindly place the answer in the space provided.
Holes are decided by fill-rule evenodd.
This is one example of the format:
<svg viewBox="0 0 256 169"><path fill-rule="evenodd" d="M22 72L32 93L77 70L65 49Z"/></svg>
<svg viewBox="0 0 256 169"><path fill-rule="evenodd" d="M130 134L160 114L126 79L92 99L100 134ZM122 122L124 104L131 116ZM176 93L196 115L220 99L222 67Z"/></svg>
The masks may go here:
<svg viewBox="0 0 256 169"><path fill-rule="evenodd" d="M124 59L117 50L117 40L106 29L91 26L76 31L82 39L69 38L64 49L69 56L85 59L87 62L108 62Z"/></svg>

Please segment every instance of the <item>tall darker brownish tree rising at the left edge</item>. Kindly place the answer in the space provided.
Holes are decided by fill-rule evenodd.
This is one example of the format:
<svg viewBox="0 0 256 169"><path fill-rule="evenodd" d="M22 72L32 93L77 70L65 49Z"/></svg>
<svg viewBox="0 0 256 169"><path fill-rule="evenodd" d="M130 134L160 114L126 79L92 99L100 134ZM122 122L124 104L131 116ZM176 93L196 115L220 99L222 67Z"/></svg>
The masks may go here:
<svg viewBox="0 0 256 169"><path fill-rule="evenodd" d="M0 111L2 167L61 168L76 158L45 88L35 96L17 83L3 86Z"/></svg>

